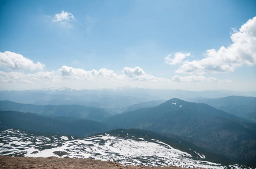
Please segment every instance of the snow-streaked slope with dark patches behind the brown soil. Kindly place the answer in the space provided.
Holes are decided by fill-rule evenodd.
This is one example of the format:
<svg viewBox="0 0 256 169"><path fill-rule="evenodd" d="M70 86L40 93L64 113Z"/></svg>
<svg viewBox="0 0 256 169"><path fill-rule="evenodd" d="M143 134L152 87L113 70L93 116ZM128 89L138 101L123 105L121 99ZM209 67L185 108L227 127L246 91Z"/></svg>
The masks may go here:
<svg viewBox="0 0 256 169"><path fill-rule="evenodd" d="M203 154L174 149L159 140L100 134L83 139L67 136L34 136L19 130L0 132L0 155L25 157L95 158L126 165L198 168L244 168L204 161Z"/></svg>

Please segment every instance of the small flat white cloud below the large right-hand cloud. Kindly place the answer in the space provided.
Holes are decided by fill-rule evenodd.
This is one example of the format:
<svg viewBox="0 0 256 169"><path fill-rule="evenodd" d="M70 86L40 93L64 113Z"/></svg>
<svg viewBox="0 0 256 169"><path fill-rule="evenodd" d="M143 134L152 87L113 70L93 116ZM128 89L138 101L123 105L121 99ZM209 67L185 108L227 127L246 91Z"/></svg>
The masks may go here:
<svg viewBox="0 0 256 169"><path fill-rule="evenodd" d="M209 77L206 78L203 75L190 75L190 76L185 76L185 77L180 77L178 75L175 75L172 78L173 82L208 82L208 83L217 83L219 82L218 79Z"/></svg>

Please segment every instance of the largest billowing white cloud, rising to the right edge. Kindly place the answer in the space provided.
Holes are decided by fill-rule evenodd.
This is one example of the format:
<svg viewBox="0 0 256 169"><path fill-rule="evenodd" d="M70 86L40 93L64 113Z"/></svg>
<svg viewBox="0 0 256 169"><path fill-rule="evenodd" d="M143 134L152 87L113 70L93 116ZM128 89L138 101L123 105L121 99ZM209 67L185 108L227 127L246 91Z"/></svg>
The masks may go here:
<svg viewBox="0 0 256 169"><path fill-rule="evenodd" d="M243 65L255 65L256 17L249 19L241 26L239 31L233 29L231 39L233 43L227 48L222 46L217 51L215 49L207 50L204 54L204 59L185 61L181 67L176 70L176 73L226 73L233 72ZM177 63L175 62L175 57L173 60L170 60L170 63Z"/></svg>

